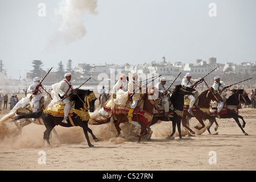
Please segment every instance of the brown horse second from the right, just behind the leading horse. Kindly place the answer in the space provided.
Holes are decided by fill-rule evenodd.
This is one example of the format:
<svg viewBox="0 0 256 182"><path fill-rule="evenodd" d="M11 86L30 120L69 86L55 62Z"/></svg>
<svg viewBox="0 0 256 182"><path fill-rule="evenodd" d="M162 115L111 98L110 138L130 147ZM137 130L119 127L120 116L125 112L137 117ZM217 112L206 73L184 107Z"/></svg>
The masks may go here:
<svg viewBox="0 0 256 182"><path fill-rule="evenodd" d="M217 131L218 123L216 122L216 118L210 116L206 112L209 112L209 107L210 107L210 101L211 100L217 101L217 102L219 102L219 101L222 102L221 96L218 94L218 92L216 90L214 90L212 87L210 87L208 90L205 90L204 92L202 92L200 94L200 96L197 98L197 100L198 100L197 108L192 110L193 115L188 113L187 107L184 108L184 115L183 115L183 118L181 120L182 125L186 129L188 129L192 134L195 134L195 132L187 126L189 119L192 118L192 117L195 117L200 122L200 124L202 126L201 127L196 126L195 128L197 130L201 130L205 127L203 119L204 120L209 119L210 121L214 121L216 123L216 129L215 130ZM185 107L185 105L184 105L184 107Z"/></svg>

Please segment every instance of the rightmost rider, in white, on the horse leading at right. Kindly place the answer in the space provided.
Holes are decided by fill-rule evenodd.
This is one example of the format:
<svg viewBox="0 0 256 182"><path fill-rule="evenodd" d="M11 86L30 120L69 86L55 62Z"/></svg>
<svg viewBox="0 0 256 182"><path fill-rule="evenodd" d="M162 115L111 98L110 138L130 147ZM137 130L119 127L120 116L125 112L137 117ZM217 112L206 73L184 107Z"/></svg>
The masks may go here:
<svg viewBox="0 0 256 182"><path fill-rule="evenodd" d="M212 88L214 90L217 90L218 94L220 94L220 96L221 96L221 98L223 100L223 102L218 103L218 106L217 106L217 108L218 108L217 112L220 113L222 107L224 106L224 102L226 101L226 94L223 91L226 88L229 88L232 85L228 85L227 86L223 81L220 81L220 76L214 77L214 80L215 81L214 81L214 83L212 85Z"/></svg>

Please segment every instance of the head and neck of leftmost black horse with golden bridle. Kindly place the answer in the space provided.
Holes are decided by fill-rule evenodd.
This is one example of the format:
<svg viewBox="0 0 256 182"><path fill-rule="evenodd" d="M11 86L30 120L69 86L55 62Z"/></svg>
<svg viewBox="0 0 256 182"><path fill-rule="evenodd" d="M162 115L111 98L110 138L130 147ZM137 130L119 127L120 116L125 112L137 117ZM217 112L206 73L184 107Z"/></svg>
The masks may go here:
<svg viewBox="0 0 256 182"><path fill-rule="evenodd" d="M76 101L75 109L89 110L91 113L96 109L95 101L97 97L92 90L76 89L71 100Z"/></svg>

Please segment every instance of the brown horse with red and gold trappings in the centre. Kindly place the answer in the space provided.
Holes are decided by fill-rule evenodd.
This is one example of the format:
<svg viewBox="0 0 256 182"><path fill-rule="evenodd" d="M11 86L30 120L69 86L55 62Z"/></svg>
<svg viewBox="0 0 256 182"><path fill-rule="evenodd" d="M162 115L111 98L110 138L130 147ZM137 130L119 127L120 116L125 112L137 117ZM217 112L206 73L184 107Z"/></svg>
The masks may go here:
<svg viewBox="0 0 256 182"><path fill-rule="evenodd" d="M146 90L146 92L143 92L142 97L141 97L141 100L143 101L143 108L138 107L138 106L135 107L134 112L133 112L133 117L132 117L132 121L138 122L139 125L137 125L137 126L141 126L141 133L139 135L137 135L137 137L138 137L137 143L141 143L141 138L147 134L147 125L150 124L152 121L152 117L153 117L152 113L153 113L154 105L156 102L158 102L158 98L162 97L162 93L160 93L159 90L156 89L154 86L152 86L151 89L157 90L156 92L158 92L158 97L155 96L155 92L148 91L148 86L146 86L146 88L144 88L144 89ZM150 96L152 98L154 97L154 100ZM130 98L128 98L128 99L130 99ZM90 118L90 124L101 125L104 123L109 123L110 119L113 117L115 129L117 130L116 137L118 137L122 131L121 128L119 127L119 125L121 123L129 122L129 119L127 118L128 112L125 114L124 113L116 113L114 110L114 107L108 116L102 115L101 117Z"/></svg>

